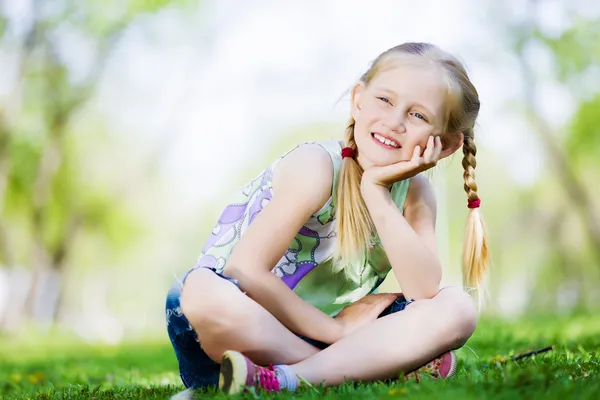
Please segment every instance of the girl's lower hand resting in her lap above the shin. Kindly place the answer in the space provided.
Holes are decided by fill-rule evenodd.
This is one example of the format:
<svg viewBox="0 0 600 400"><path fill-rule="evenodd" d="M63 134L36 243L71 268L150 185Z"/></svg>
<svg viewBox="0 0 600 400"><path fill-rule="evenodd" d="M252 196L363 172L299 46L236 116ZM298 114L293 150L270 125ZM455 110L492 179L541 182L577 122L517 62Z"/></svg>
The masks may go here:
<svg viewBox="0 0 600 400"><path fill-rule="evenodd" d="M401 293L370 294L344 307L335 317L336 321L342 325L342 337L349 335L363 325L375 321L379 314L400 295Z"/></svg>

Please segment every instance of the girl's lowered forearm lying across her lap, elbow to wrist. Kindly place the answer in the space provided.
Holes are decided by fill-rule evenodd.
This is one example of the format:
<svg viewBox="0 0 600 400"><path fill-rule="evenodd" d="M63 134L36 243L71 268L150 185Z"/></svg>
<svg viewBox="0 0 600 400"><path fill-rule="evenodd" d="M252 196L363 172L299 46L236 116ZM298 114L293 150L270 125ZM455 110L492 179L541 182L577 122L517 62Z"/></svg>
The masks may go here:
<svg viewBox="0 0 600 400"><path fill-rule="evenodd" d="M250 298L290 331L328 344L342 337L338 321L302 300L272 272L230 270L231 273Z"/></svg>

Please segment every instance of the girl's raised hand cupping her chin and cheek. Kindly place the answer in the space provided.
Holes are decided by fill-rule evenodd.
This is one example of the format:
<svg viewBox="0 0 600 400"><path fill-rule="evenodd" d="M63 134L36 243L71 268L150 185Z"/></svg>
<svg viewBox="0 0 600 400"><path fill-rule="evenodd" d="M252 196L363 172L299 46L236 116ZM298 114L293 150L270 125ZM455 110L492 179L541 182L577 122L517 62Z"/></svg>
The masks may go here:
<svg viewBox="0 0 600 400"><path fill-rule="evenodd" d="M421 146L416 146L411 159L408 161L400 161L383 167L373 166L367 168L362 176L361 189L364 184L376 184L389 188L394 182L411 178L434 167L439 161L441 153L442 140L439 136L436 136L435 139L430 136L423 156L421 156Z"/></svg>

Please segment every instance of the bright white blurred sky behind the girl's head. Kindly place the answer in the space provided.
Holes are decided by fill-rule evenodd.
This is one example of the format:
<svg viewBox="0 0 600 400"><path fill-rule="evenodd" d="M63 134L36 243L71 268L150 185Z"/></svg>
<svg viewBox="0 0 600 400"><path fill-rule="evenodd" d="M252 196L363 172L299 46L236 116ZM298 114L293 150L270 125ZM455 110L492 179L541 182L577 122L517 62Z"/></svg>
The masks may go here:
<svg viewBox="0 0 600 400"><path fill-rule="evenodd" d="M340 95L381 51L405 41L430 41L464 60L483 104L480 145L510 153L531 136L501 110L519 86L511 60L490 51L502 43L486 29L491 16L484 3L204 4L197 15L166 12L130 32L101 97L120 129L145 138L172 136L168 176L189 206L215 200L228 179L257 160L266 164L262 151L278 134L313 121L344 121L347 103L336 106ZM495 65L490 57L497 57ZM555 113L565 109L561 104L545 106ZM540 158L535 149L521 158L511 165L527 184Z"/></svg>

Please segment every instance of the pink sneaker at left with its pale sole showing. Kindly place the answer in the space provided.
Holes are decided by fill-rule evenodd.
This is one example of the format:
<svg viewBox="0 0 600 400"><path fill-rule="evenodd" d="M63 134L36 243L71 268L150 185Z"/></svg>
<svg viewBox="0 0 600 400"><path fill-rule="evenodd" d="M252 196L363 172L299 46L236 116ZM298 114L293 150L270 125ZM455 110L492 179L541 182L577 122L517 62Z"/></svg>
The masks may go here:
<svg viewBox="0 0 600 400"><path fill-rule="evenodd" d="M226 351L221 361L219 388L227 394L235 394L240 393L247 386L267 392L278 392L279 381L273 366L260 367L242 353Z"/></svg>

